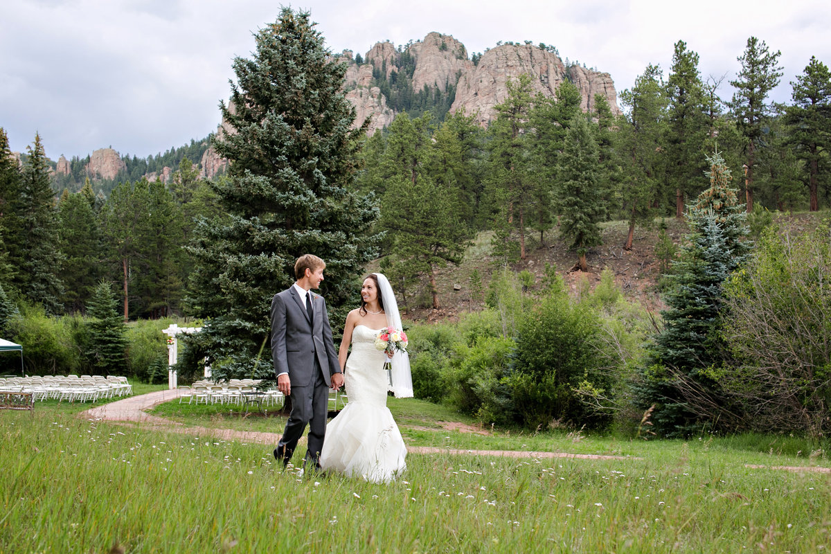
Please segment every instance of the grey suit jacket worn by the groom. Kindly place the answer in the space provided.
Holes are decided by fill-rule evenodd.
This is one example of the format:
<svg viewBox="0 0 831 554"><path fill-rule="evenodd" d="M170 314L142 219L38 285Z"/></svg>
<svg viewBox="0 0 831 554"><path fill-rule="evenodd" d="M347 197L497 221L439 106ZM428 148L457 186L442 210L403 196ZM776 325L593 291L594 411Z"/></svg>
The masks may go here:
<svg viewBox="0 0 831 554"><path fill-rule="evenodd" d="M323 370L327 385L331 376L341 372L326 301L312 292L313 327L306 308L294 287L278 292L271 300L271 355L276 375L288 373L292 386L314 382L314 357Z"/></svg>

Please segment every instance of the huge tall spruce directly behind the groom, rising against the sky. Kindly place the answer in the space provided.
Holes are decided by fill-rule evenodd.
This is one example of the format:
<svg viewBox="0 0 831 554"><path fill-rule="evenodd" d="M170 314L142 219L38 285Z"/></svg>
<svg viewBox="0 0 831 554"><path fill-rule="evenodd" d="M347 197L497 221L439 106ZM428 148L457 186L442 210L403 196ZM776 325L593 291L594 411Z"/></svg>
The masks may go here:
<svg viewBox="0 0 831 554"><path fill-rule="evenodd" d="M377 252L368 234L377 208L347 188L365 129L352 130L346 66L332 59L309 17L283 8L260 30L253 57L234 60L229 105L220 104L231 132L214 146L229 159L229 179L214 189L229 219L203 220L189 248L190 311L209 318L200 343L217 379L273 379L268 311L294 281L297 257L326 261L321 292L337 329L345 316L337 307L347 309Z"/></svg>

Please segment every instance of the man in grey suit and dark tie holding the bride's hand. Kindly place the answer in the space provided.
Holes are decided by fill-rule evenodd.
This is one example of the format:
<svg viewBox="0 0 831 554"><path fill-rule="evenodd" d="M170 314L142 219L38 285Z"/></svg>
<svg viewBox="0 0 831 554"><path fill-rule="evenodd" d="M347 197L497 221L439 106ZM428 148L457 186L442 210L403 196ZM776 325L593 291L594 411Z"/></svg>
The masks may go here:
<svg viewBox="0 0 831 554"><path fill-rule="evenodd" d="M274 458L283 466L288 465L297 440L309 424L303 465L312 463L317 467L326 434L328 389L337 390L343 385L326 302L310 292L320 287L325 268L326 263L317 256L298 257L294 263L297 282L275 294L271 301L271 354L277 388L292 399L286 429L274 449Z"/></svg>

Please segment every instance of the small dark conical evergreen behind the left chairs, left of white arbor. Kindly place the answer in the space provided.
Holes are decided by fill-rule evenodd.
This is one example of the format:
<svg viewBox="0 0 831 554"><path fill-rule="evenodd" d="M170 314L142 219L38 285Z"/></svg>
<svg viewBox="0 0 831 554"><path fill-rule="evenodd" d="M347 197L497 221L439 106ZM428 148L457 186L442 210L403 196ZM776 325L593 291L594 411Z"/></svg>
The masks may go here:
<svg viewBox="0 0 831 554"><path fill-rule="evenodd" d="M90 318L91 365L98 375L121 375L126 358L126 326L118 310L118 300L109 282L98 283L86 305Z"/></svg>

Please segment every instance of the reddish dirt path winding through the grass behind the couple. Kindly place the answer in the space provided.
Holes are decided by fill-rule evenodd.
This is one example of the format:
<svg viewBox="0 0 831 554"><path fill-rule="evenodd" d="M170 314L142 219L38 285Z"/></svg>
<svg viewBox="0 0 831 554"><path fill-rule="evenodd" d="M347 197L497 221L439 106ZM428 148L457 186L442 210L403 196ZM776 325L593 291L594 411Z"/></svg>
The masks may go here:
<svg viewBox="0 0 831 554"><path fill-rule="evenodd" d="M116 400L109 404L103 404L97 408L88 409L80 414L87 419L102 419L115 422L140 423L144 428L158 429L170 433L201 434L210 435L218 439L237 440L245 443L275 445L280 438L278 433L258 433L253 431L234 431L232 429L211 429L209 427L188 427L170 419L164 419L155 415L147 414L145 410L156 404L175 400L179 397L177 390L159 390L147 395L130 396L124 400ZM460 431L465 432L464 429ZM627 456L605 456L601 454L575 454L566 452L534 452L517 450L464 450L464 449L439 449L430 446L407 447L407 453L414 454L437 454L449 453L459 455L475 456L504 456L509 458L575 458L575 459L603 459L603 460L625 460L638 459ZM793 472L817 472L831 473L831 468L800 467L800 466L761 466L745 464L745 468L752 469L784 469Z"/></svg>

